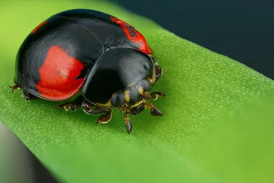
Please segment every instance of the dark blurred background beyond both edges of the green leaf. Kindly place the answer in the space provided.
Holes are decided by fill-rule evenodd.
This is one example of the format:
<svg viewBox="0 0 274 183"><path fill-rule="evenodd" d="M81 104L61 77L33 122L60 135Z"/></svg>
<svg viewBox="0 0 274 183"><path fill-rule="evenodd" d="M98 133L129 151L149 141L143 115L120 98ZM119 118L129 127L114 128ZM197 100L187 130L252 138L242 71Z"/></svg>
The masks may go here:
<svg viewBox="0 0 274 183"><path fill-rule="evenodd" d="M274 0L112 1L146 16L177 36L229 56L274 79ZM0 138L15 138L0 122L1 131L5 133L1 133ZM17 160L18 157L28 157L28 163L26 160L17 160L12 165L29 170L22 181L32 176L33 182L54 182L48 171L20 141L11 140L9 143L0 141L0 147L8 149L11 143L13 149L16 147L17 154L10 154L10 158ZM22 156L22 153L25 155ZM14 171L14 174L18 175L19 172Z"/></svg>

